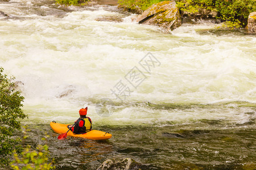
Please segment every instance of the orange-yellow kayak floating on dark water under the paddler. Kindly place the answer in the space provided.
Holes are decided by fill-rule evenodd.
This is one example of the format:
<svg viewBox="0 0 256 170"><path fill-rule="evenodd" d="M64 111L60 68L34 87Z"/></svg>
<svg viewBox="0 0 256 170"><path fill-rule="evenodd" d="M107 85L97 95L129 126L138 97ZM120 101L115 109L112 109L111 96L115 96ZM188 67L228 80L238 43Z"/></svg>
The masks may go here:
<svg viewBox="0 0 256 170"><path fill-rule="evenodd" d="M66 133L68 131L68 125L65 124L59 124L55 121L52 121L50 123L51 128L56 133L62 134ZM68 136L71 137L79 137L79 138L86 138L86 139L92 139L92 140L106 140L110 139L112 137L112 134L100 130L91 130L84 134L75 134L71 130L67 133Z"/></svg>

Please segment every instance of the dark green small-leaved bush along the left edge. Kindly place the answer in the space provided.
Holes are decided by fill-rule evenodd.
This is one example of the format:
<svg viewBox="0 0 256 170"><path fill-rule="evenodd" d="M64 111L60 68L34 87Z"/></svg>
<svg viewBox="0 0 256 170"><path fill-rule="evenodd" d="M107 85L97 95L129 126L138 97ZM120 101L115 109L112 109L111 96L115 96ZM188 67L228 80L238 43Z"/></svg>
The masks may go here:
<svg viewBox="0 0 256 170"><path fill-rule="evenodd" d="M26 118L21 107L23 96L15 90L14 78L7 78L0 67L0 165L9 164L9 157L14 150L22 151L20 138L14 138L15 130L20 130L19 119Z"/></svg>

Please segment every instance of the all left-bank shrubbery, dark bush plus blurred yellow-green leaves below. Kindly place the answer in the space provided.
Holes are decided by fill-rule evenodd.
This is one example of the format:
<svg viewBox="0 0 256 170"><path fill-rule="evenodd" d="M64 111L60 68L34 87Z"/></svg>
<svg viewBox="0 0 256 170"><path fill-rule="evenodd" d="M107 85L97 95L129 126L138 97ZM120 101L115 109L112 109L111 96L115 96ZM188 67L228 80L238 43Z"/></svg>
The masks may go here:
<svg viewBox="0 0 256 170"><path fill-rule="evenodd" d="M13 169L53 169L49 160L48 146L30 146L23 149L22 139L15 133L22 130L20 120L28 118L22 111L24 97L16 90L15 78L3 74L0 67L0 167ZM27 138L26 136L23 137ZM11 162L12 161L12 162Z"/></svg>

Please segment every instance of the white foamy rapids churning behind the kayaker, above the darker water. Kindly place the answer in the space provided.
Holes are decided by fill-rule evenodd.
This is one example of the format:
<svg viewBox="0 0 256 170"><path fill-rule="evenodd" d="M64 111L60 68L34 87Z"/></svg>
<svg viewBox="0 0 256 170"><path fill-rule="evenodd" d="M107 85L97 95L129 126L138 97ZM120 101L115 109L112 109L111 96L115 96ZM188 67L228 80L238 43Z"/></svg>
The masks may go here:
<svg viewBox="0 0 256 170"><path fill-rule="evenodd" d="M143 103L256 103L255 36L202 31L216 27L213 24L183 25L166 34L102 7L71 7L75 11L61 16L49 8L32 1L0 5L9 15L0 18L0 63L19 81L30 122L70 122L84 105L94 121L104 124L249 121L245 113L251 108L152 109ZM47 15L35 12L39 9ZM97 21L104 17L123 22ZM139 65L148 52L160 62L151 74ZM137 88L125 79L134 66L147 76ZM107 97L120 105L111 91L119 80L133 92L112 116L98 116L99 99ZM133 103L141 104L129 105Z"/></svg>

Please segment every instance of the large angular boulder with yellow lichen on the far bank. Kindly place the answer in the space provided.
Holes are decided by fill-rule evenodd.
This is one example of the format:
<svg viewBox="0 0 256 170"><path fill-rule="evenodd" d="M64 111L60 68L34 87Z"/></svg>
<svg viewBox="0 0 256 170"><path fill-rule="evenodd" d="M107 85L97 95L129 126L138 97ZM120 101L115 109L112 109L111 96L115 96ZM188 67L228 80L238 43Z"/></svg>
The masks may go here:
<svg viewBox="0 0 256 170"><path fill-rule="evenodd" d="M163 1L139 15L137 22L173 30L181 25L181 17L175 1Z"/></svg>

